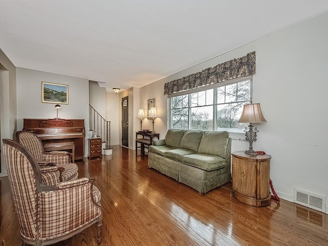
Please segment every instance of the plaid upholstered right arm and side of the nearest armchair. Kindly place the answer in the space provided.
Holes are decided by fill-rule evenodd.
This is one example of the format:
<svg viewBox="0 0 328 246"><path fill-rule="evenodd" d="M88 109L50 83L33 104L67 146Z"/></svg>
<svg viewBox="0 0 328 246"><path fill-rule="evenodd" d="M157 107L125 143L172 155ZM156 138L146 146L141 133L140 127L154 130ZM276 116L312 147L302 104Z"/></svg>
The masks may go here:
<svg viewBox="0 0 328 246"><path fill-rule="evenodd" d="M100 192L93 189L93 181L88 180L81 179L66 188L59 185L62 186L59 189L38 193L37 226L44 238L67 235L67 232L79 230L94 220L101 223Z"/></svg>

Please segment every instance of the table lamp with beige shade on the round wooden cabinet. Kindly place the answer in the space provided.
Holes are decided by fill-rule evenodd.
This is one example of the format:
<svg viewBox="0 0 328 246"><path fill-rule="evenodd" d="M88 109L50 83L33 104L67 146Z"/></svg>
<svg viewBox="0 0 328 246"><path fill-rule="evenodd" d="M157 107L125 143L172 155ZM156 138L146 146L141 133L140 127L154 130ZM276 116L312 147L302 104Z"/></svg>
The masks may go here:
<svg viewBox="0 0 328 246"><path fill-rule="evenodd" d="M256 133L258 131L256 127L253 129L252 123L267 122L267 120L265 120L262 114L260 104L244 105L238 122L250 123L250 125L248 126L249 129L246 128L244 130L244 132L246 133L246 140L250 142L250 148L249 150L246 150L245 153L249 155L257 155L257 153L253 150L253 141L256 141Z"/></svg>

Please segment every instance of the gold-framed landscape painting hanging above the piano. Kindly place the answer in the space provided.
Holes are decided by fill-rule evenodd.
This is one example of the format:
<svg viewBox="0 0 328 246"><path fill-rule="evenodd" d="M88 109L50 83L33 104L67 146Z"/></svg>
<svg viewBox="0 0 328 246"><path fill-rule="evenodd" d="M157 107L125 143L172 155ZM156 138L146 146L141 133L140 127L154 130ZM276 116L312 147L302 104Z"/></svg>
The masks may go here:
<svg viewBox="0 0 328 246"><path fill-rule="evenodd" d="M42 82L42 103L68 104L68 85Z"/></svg>

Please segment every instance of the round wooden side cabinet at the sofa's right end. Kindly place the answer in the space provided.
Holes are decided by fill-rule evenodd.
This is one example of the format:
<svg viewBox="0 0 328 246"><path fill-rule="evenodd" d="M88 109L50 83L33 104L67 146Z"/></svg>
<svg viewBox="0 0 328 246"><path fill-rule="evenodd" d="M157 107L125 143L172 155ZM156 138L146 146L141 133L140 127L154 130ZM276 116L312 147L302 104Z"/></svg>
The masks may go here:
<svg viewBox="0 0 328 246"><path fill-rule="evenodd" d="M271 204L271 155L248 155L244 151L232 153L232 195L254 207Z"/></svg>

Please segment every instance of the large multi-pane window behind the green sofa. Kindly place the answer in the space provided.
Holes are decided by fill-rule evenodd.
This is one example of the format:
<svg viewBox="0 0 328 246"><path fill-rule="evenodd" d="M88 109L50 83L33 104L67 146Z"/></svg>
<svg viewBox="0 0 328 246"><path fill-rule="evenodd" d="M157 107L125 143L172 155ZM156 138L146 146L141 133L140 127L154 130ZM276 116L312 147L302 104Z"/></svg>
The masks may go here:
<svg viewBox="0 0 328 246"><path fill-rule="evenodd" d="M242 106L251 103L252 79L239 78L233 84L220 85L190 90L189 94L185 91L182 93L186 94L169 98L170 128L243 132L247 124L238 120Z"/></svg>

